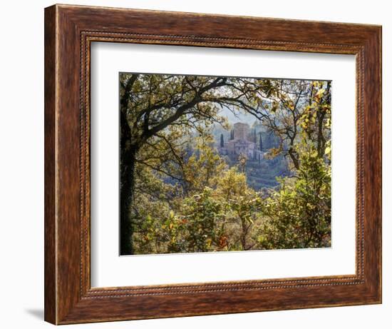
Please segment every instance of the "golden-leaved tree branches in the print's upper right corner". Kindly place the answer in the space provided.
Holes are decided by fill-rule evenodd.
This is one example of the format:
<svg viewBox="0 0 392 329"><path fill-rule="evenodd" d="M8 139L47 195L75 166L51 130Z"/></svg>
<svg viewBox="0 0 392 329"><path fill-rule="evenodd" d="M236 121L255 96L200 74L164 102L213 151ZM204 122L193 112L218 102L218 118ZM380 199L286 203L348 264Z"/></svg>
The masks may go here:
<svg viewBox="0 0 392 329"><path fill-rule="evenodd" d="M319 156L322 157L326 139L330 133L331 81L299 80L254 80L254 86L247 99L252 106L247 111L262 121L267 129L280 141L271 156L281 153L289 156L294 169L299 169L299 154L296 143L301 128L307 131L307 138L316 141ZM262 87L258 88L258 83Z"/></svg>

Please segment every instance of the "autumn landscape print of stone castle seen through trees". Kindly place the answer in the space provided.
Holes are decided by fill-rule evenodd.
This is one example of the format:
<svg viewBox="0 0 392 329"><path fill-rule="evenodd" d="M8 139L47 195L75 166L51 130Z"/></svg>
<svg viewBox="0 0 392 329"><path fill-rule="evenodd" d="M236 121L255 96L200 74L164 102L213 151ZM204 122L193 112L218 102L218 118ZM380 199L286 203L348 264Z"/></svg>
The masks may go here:
<svg viewBox="0 0 392 329"><path fill-rule="evenodd" d="M119 88L120 255L331 247L331 81Z"/></svg>

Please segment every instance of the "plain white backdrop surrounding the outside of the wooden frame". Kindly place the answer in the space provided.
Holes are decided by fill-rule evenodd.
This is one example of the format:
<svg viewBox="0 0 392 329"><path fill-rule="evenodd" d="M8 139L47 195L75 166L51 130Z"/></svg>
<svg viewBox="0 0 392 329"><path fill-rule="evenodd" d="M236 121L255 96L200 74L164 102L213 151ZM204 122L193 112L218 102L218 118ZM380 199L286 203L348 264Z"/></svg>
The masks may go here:
<svg viewBox="0 0 392 329"><path fill-rule="evenodd" d="M390 328L392 312L389 1L82 1L78 4L383 25L383 304L83 325L86 328ZM64 0L63 3L72 3ZM0 11L1 327L43 323L43 7L6 1ZM389 91L389 94L388 94ZM70 326L73 328L74 326Z"/></svg>

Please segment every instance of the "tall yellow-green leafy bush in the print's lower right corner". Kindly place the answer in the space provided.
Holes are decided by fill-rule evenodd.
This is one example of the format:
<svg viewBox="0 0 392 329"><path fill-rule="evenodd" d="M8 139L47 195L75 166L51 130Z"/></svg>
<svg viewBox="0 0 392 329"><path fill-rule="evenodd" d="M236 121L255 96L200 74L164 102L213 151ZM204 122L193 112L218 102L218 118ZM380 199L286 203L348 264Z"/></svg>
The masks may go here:
<svg viewBox="0 0 392 329"><path fill-rule="evenodd" d="M258 246L312 248L331 246L331 167L313 145L302 144L301 167L264 203Z"/></svg>

